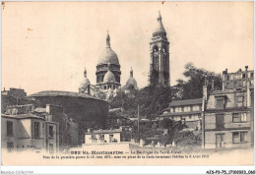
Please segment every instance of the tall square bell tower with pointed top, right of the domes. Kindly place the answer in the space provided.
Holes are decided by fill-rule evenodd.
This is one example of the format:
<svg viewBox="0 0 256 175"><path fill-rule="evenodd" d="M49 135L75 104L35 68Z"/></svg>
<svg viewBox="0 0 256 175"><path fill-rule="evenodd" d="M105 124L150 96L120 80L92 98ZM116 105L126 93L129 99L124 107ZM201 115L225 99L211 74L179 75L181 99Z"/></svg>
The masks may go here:
<svg viewBox="0 0 256 175"><path fill-rule="evenodd" d="M169 42L161 16L158 18L157 29L153 32L150 49L150 86L169 87Z"/></svg>

